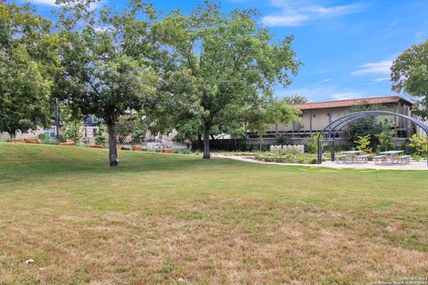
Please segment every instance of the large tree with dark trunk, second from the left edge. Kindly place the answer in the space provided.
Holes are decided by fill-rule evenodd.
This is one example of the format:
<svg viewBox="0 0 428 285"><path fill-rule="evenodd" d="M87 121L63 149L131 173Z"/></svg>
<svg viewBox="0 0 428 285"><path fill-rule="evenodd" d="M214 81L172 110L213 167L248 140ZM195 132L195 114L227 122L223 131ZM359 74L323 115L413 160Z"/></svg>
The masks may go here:
<svg viewBox="0 0 428 285"><path fill-rule="evenodd" d="M151 4L132 0L128 8L94 9L90 0L58 0L62 73L56 95L83 114L103 118L109 159L118 166L115 126L119 117L141 110L155 94L152 68L157 45L150 32Z"/></svg>

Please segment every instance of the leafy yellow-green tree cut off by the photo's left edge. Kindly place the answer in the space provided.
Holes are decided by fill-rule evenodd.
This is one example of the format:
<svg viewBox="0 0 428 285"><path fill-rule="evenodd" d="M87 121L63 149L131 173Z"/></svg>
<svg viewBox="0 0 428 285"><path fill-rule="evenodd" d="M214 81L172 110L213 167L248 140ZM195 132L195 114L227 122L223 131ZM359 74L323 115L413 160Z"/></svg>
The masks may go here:
<svg viewBox="0 0 428 285"><path fill-rule="evenodd" d="M0 3L0 132L12 137L52 122L51 22L29 7Z"/></svg>

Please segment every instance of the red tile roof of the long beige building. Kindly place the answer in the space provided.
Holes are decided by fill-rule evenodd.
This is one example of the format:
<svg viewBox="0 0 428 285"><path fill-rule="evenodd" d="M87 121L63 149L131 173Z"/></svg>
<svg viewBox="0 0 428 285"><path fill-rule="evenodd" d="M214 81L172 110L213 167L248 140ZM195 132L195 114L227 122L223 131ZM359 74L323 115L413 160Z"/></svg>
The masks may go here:
<svg viewBox="0 0 428 285"><path fill-rule="evenodd" d="M399 102L400 100L407 102L406 99L403 99L399 96L385 96L385 97L360 98L360 99L350 99L350 100L337 100L337 101L328 101L328 102L311 102L311 103L294 105L294 107L300 110L313 110L313 109L351 107L351 106L362 105L362 104L363 105L388 104L388 103L396 103L396 102Z"/></svg>

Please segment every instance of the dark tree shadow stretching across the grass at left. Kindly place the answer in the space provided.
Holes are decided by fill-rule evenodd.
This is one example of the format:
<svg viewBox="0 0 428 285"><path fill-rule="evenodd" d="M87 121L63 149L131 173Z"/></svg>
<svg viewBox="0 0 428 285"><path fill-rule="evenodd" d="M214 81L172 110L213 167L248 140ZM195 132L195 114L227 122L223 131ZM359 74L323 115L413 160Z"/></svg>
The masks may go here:
<svg viewBox="0 0 428 285"><path fill-rule="evenodd" d="M128 154L120 159L119 167L109 167L105 159L33 159L29 161L3 162L0 164L0 184L17 183L21 180L45 181L62 175L121 175L150 172L191 171L198 167L222 167L242 165L232 159L201 159L193 155L160 153ZM207 171L210 169L207 168ZM168 174L165 174L168 175ZM2 191L2 187L0 187Z"/></svg>

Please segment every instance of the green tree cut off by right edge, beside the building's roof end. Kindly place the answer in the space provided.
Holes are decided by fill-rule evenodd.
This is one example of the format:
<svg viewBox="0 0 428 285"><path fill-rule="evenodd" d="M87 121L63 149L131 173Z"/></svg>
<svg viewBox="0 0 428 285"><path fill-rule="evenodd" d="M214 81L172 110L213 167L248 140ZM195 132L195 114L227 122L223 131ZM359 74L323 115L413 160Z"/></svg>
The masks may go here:
<svg viewBox="0 0 428 285"><path fill-rule="evenodd" d="M414 100L414 111L428 118L428 40L412 45L393 62L392 91L409 94Z"/></svg>

